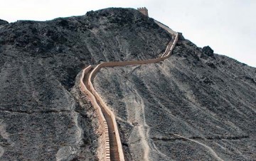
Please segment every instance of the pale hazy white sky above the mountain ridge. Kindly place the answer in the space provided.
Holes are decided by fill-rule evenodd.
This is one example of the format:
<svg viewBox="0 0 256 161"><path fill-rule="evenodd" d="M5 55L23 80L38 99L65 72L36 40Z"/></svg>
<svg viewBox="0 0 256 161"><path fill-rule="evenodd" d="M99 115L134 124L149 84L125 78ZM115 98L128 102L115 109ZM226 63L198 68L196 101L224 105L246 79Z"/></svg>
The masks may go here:
<svg viewBox="0 0 256 161"><path fill-rule="evenodd" d="M141 6L198 47L209 45L215 53L256 67L256 0L1 0L0 18L45 21Z"/></svg>

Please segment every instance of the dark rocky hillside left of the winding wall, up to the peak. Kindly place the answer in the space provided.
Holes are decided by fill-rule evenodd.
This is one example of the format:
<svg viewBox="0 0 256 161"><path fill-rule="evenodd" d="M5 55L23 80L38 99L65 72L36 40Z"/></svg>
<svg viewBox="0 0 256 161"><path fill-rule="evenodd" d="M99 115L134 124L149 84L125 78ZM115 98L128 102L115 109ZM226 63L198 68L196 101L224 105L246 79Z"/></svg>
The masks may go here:
<svg viewBox="0 0 256 161"><path fill-rule="evenodd" d="M171 40L134 9L1 24L0 160L97 160L97 120L75 77L102 61L158 57Z"/></svg>

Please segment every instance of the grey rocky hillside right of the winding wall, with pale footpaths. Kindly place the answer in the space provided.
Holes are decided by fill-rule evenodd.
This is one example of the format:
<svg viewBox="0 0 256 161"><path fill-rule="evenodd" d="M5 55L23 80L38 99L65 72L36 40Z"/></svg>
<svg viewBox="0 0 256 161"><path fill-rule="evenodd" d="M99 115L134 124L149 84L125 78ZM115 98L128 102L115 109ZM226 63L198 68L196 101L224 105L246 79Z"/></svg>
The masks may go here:
<svg viewBox="0 0 256 161"><path fill-rule="evenodd" d="M130 160L255 160L256 69L180 40L164 62L105 68L95 87Z"/></svg>

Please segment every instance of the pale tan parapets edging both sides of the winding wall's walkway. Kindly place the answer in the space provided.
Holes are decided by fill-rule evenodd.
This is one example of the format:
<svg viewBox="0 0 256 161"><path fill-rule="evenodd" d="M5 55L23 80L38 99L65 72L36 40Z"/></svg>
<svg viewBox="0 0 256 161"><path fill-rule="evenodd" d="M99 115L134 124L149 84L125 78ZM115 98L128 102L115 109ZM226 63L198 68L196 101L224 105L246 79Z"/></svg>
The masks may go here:
<svg viewBox="0 0 256 161"><path fill-rule="evenodd" d="M160 24L159 22L156 21L156 23L163 28L163 25ZM166 27L164 28L166 30ZM144 65L144 64L150 64L150 63L156 63L156 62L161 62L162 60L165 60L166 58L170 57L171 51L174 50L174 47L178 41L178 33L174 33L173 30L167 30L169 33L174 34L174 38L172 38L171 42L167 45L166 50L164 54L161 57L158 57L156 59L149 59L149 60L137 60L137 61L126 61L126 62L102 62L100 65L97 65L93 70L92 66L86 67L85 70L82 71L82 77L80 78L80 88L81 90L89 96L90 101L92 101L92 105L95 106L95 109L97 111L97 115L99 116L100 119L100 133L104 135L104 139L102 140L102 144L105 145L105 156L104 160L112 160L110 158L110 135L114 135L114 137L117 140L117 147L118 147L118 155L119 155L119 160L124 161L124 152L122 150L122 143L120 140L119 136L119 131L117 128L117 121L115 120L114 113L110 110L110 108L105 104L105 102L102 100L100 97L100 94L97 93L95 88L93 87L92 84L92 79L95 77L97 72L102 68L102 67L121 67L121 66L127 66L127 65ZM90 72L91 71L91 72ZM90 73L90 74L89 74ZM89 77L85 77L85 75L88 75ZM84 84L85 82L85 84ZM101 109L104 108L104 109ZM107 126L107 121L105 119L105 116L102 113L103 111L106 111L112 121L112 125L114 126L114 131L115 134L109 133L108 131L108 126ZM104 129L104 130L102 130ZM102 158L103 159L103 158Z"/></svg>

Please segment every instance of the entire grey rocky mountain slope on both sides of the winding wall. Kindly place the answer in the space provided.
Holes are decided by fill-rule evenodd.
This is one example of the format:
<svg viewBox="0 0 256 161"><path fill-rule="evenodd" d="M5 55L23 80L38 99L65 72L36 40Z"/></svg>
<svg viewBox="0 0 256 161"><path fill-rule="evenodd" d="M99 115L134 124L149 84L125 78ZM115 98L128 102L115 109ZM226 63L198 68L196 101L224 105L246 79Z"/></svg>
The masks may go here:
<svg viewBox="0 0 256 161"><path fill-rule="evenodd" d="M80 71L159 57L166 30L134 9L0 22L0 160L97 160L97 117ZM127 160L253 160L256 70L178 42L164 62L110 67L95 88Z"/></svg>

